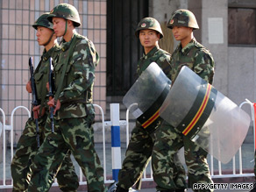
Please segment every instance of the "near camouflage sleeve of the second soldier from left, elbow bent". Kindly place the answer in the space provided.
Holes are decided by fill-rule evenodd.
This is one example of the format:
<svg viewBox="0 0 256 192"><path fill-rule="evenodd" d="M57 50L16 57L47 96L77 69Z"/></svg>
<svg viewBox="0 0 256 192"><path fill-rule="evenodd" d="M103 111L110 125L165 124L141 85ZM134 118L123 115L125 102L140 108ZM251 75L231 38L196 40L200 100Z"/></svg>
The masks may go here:
<svg viewBox="0 0 256 192"><path fill-rule="evenodd" d="M95 80L95 68L98 63L98 54L92 42L82 39L76 45L71 60L71 68L74 70L74 78L68 87L60 93L60 103L84 97L87 89L90 89Z"/></svg>

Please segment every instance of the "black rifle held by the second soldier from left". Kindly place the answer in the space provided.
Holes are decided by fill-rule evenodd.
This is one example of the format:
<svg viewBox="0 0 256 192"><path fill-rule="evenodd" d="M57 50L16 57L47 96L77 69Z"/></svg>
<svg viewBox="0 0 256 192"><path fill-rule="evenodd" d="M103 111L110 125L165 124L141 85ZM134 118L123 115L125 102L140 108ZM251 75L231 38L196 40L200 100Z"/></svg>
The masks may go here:
<svg viewBox="0 0 256 192"><path fill-rule="evenodd" d="M49 59L49 76L48 76L48 83L49 83L49 101L53 99L53 59L50 57ZM52 132L54 132L54 124L53 124L53 106L50 106L50 119L51 119L51 127Z"/></svg>

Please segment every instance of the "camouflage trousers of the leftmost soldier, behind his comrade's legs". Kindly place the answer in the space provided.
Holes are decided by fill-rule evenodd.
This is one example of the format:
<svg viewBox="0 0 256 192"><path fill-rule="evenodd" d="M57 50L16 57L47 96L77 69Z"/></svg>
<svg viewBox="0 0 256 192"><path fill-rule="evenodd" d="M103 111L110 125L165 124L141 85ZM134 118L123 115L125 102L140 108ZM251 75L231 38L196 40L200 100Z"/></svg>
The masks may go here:
<svg viewBox="0 0 256 192"><path fill-rule="evenodd" d="M39 118L39 140L40 144L45 137L44 126L46 117ZM28 188L26 180L27 174L30 174L29 167L39 148L37 145L37 133L34 120L29 118L25 124L16 149L16 153L11 161L11 176L13 179L13 191L25 191ZM64 176L65 175L65 176ZM70 154L65 158L57 174L57 181L62 191L76 191L79 186L75 167L70 159Z"/></svg>

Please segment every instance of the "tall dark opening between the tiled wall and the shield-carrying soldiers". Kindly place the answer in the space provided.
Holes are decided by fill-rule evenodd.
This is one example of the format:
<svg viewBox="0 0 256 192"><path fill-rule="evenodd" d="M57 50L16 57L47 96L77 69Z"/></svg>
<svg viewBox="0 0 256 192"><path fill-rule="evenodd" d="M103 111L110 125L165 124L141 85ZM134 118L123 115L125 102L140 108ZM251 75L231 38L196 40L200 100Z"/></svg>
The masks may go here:
<svg viewBox="0 0 256 192"><path fill-rule="evenodd" d="M148 0L109 0L107 4L107 96L124 96L138 78L143 50L134 32L139 21L148 17Z"/></svg>

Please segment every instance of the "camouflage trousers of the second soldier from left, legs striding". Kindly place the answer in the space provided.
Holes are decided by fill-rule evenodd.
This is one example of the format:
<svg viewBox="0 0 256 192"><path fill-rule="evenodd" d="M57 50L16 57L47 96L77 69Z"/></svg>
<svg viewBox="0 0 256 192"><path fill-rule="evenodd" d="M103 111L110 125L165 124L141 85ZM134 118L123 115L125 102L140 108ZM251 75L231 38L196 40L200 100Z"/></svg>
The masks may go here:
<svg viewBox="0 0 256 192"><path fill-rule="evenodd" d="M46 124L46 139L32 162L28 191L48 191L53 184L54 173L69 150L86 176L88 190L106 191L103 167L95 150L93 128L89 118L60 119L55 124L58 124L58 127L54 132L51 132L51 128Z"/></svg>

